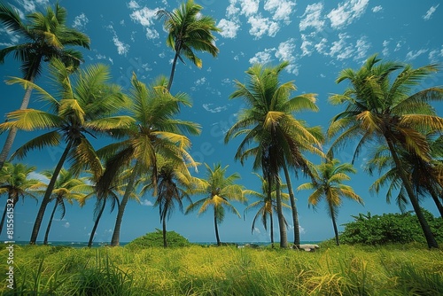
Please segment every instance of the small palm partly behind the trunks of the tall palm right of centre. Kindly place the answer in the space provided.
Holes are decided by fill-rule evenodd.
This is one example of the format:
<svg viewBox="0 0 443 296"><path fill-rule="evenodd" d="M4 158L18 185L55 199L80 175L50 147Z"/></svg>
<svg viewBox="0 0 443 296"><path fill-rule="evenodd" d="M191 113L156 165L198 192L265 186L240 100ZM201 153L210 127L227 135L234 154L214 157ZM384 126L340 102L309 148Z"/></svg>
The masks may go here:
<svg viewBox="0 0 443 296"><path fill-rule="evenodd" d="M257 214L253 217L253 225L251 227L251 233L255 230L255 222L257 219L260 219L265 230L268 230L268 219L269 219L269 227L270 227L270 238L271 245L274 247L274 213L276 213L276 186L271 186L271 193L268 194L268 183L267 181L259 174L253 173L260 178L261 181L261 192L257 191L247 191L248 195L251 195L259 200L253 202L249 206L245 207L245 214L252 210L258 209ZM281 184L280 188L284 189L285 184ZM289 199L289 194L282 192L282 199ZM291 206L286 205L282 202L282 206L291 208ZM287 225L287 222L285 222Z"/></svg>

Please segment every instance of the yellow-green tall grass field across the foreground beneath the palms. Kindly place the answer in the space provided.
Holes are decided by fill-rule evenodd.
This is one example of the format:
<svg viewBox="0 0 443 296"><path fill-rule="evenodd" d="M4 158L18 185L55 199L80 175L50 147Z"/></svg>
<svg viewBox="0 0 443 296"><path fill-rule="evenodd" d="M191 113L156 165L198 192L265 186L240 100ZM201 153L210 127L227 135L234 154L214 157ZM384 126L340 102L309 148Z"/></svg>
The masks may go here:
<svg viewBox="0 0 443 296"><path fill-rule="evenodd" d="M15 290L0 252L2 295L443 295L443 252L424 245L13 251Z"/></svg>

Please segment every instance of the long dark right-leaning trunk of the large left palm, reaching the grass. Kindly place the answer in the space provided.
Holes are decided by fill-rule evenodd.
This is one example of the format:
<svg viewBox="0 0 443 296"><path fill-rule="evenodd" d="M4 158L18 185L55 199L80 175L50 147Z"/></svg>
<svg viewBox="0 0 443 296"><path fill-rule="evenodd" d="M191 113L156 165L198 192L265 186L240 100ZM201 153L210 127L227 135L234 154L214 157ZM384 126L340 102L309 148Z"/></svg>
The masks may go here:
<svg viewBox="0 0 443 296"><path fill-rule="evenodd" d="M40 208L38 209L37 216L35 217L34 222L34 228L32 230L31 239L29 240L30 245L35 245L35 242L38 237L38 232L40 231L40 226L43 222L43 215L44 211L46 210L46 206L48 206L48 203L51 201L51 194L54 190L54 185L57 181L58 174L60 173L61 168L63 167L63 164L65 163L65 160L67 158L67 154L69 154L69 151L71 150L71 147L73 146L73 140L69 141L66 145L65 151L60 157L60 160L58 160L57 167L54 169L54 173L52 174L51 181L48 184L48 188L44 192L44 196L42 199L42 204L40 205Z"/></svg>

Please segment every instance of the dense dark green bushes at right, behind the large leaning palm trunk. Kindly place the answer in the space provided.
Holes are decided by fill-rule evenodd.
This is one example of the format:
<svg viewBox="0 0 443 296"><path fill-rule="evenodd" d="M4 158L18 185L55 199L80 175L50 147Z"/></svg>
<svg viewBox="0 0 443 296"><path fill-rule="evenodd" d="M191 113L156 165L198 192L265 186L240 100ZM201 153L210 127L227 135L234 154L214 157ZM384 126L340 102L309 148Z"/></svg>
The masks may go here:
<svg viewBox="0 0 443 296"><path fill-rule="evenodd" d="M437 241L443 241L443 221L434 217L426 210L424 216L431 227ZM423 231L416 214L373 215L360 214L354 222L346 223L340 235L343 244L385 245L407 244L412 242L425 243Z"/></svg>

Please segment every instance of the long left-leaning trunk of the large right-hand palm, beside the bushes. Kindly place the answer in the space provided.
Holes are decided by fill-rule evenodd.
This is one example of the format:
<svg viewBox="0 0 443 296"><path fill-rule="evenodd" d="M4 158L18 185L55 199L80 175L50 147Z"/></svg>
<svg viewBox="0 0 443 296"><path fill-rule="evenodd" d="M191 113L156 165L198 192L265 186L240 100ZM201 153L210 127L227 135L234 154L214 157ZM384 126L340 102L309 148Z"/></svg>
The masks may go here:
<svg viewBox="0 0 443 296"><path fill-rule="evenodd" d="M397 170L400 174L400 179L403 182L403 185L406 188L406 191L408 192L409 200L411 201L411 204L414 208L414 211L416 212L416 217L418 219L418 222L420 222L420 226L422 227L422 230L424 232L424 238L426 238L426 242L428 244L428 247L431 249L432 247L438 248L439 244L437 244L437 241L435 240L431 228L429 227L428 222L424 218L424 214L422 212L422 209L420 207L420 204L418 202L418 199L416 198L416 195L414 194L414 191L412 190L412 185L408 180L408 176L406 175L403 167L401 166L401 162L399 160L399 156L397 155L397 152L395 152L394 145L392 141L385 136L386 142L389 146L389 150L391 151L392 159L395 163L395 167L397 167Z"/></svg>

